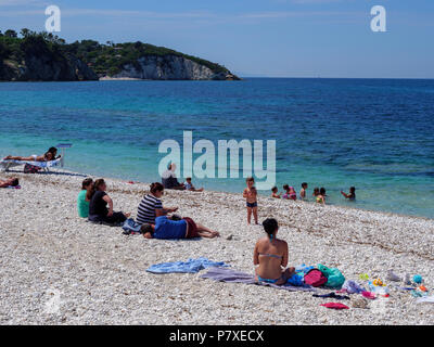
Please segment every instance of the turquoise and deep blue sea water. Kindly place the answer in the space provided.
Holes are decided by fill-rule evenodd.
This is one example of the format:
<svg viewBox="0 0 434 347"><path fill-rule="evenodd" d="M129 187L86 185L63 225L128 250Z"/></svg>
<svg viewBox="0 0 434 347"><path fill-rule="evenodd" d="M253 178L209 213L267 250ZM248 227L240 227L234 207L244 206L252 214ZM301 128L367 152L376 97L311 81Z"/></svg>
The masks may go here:
<svg viewBox="0 0 434 347"><path fill-rule="evenodd" d="M277 185L324 187L331 204L434 218L434 80L0 83L0 155L67 150L69 170L158 180L158 144L276 140ZM200 154L194 155L196 158ZM240 167L241 164L240 164ZM241 192L244 179L194 179ZM340 190L357 188L357 201ZM261 192L268 195L267 192Z"/></svg>

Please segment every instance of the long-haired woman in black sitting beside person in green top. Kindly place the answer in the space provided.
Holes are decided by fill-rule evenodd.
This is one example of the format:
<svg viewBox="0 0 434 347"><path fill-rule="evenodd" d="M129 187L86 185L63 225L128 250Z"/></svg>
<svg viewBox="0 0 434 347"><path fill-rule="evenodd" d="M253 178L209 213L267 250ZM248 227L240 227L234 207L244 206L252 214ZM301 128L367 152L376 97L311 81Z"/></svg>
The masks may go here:
<svg viewBox="0 0 434 347"><path fill-rule="evenodd" d="M107 193L105 193L107 185L105 181L103 179L98 179L87 192L86 198L89 201L89 220L111 224L122 223L130 214L113 211L113 201Z"/></svg>

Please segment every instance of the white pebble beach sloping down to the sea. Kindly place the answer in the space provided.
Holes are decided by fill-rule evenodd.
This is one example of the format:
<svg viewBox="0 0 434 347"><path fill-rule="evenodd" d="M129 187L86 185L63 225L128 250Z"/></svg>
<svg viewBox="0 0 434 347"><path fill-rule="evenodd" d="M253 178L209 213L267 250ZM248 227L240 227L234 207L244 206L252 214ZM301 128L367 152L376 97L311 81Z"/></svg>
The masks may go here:
<svg viewBox="0 0 434 347"><path fill-rule="evenodd" d="M404 283L386 280L390 269L401 278L421 274L433 295L433 219L259 196L259 221L277 218L289 266L322 264L357 281L368 273L390 287L388 297L363 299L365 308L353 306L361 295L352 294L343 301L349 309L332 310L320 305L333 299L310 292L201 279L206 270L145 271L206 257L253 273L253 248L264 230L246 223L243 188L238 194L165 190L165 206L221 236L162 241L80 219L76 198L84 175L0 174L8 177L17 177L22 189L0 190L0 324L434 324L433 304L418 304L398 290ZM149 183L104 179L114 209L135 218Z"/></svg>

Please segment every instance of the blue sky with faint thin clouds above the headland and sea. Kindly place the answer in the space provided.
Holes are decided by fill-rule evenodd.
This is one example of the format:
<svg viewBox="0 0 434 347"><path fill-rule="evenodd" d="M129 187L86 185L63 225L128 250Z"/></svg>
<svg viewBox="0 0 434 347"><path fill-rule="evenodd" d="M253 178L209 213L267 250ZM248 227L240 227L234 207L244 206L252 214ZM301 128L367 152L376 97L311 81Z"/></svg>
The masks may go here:
<svg viewBox="0 0 434 347"><path fill-rule="evenodd" d="M240 76L434 78L434 0L0 0L0 30L43 30L50 4L68 42L140 40Z"/></svg>

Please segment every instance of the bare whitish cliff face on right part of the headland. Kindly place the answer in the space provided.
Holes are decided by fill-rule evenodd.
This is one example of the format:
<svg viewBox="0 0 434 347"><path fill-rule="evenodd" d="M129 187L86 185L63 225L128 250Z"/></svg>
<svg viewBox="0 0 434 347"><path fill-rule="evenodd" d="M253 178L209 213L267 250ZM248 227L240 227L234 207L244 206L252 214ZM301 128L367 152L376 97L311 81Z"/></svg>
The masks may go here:
<svg viewBox="0 0 434 347"><path fill-rule="evenodd" d="M113 78L140 79L226 79L225 74L215 74L209 67L177 55L145 55L137 64L127 64Z"/></svg>

